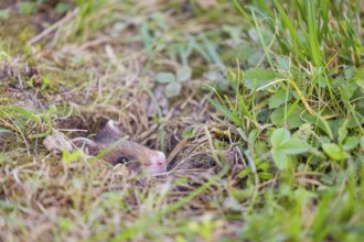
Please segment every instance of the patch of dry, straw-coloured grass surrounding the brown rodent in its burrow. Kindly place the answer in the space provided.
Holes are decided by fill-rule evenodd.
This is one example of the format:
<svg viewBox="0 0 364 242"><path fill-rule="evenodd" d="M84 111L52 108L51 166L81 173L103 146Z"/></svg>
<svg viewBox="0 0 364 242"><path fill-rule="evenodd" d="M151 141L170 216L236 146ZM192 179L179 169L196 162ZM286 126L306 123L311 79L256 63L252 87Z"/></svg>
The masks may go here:
<svg viewBox="0 0 364 242"><path fill-rule="evenodd" d="M7 213L0 221L1 240L171 239L186 219L204 215L206 206L211 208L203 220L221 215L220 202L210 198L217 199L234 182L217 185L211 177L213 170L206 172L215 165L208 139L215 125L200 124L189 139L181 136L181 131L196 123L208 123L211 108L200 89L204 80L194 79L183 86L179 98L167 99L153 76L181 64L168 58L165 52L153 51L153 57L148 58L140 40L140 23L167 6L110 3L85 15L81 9L72 10L50 28L29 34L28 55L14 54L2 62L1 89L7 95L1 103L31 111L40 122L2 110L1 127L12 133L1 133L0 196ZM173 10L165 11L171 31L160 40L178 41L182 36L174 30L194 33L213 28L193 19L174 19L173 14ZM122 31L113 16L125 19ZM79 22L82 30L77 29ZM21 29L19 32L22 34ZM195 63L205 65L201 58ZM29 66L40 70L40 78L47 77L49 87L28 85ZM50 111L52 106L56 111ZM42 138L31 139L52 130L87 136L107 119L116 120L133 140L167 154L180 144L169 157L170 167L178 166L174 173L158 178L126 176L122 168L103 161L89 163L92 158L85 154L51 155L42 146ZM232 235L233 228L224 224L221 219L213 221L220 230L206 237Z"/></svg>

